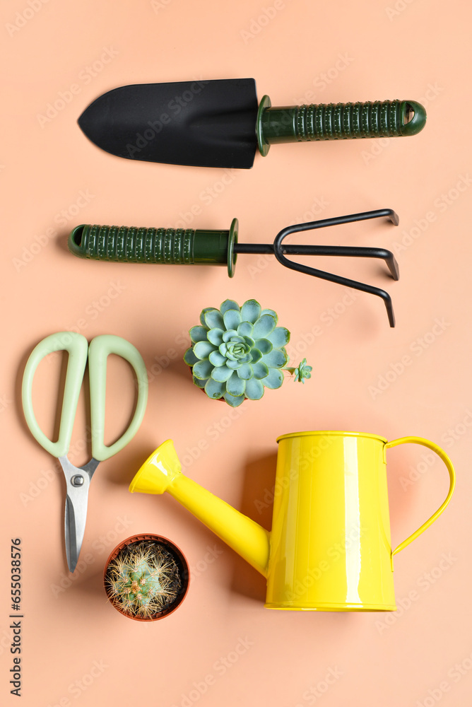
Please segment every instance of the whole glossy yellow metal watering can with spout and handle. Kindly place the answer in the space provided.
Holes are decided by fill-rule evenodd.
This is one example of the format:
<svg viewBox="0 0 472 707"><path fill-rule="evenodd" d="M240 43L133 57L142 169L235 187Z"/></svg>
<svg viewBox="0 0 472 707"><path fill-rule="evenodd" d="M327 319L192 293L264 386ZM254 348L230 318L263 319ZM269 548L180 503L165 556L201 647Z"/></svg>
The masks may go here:
<svg viewBox="0 0 472 707"><path fill-rule="evenodd" d="M420 437L392 442L358 432L297 432L278 438L268 532L182 474L172 440L144 462L129 490L167 491L267 579L266 607L395 611L393 556L442 513L454 491L447 454ZM392 551L385 454L416 443L446 464L442 506Z"/></svg>

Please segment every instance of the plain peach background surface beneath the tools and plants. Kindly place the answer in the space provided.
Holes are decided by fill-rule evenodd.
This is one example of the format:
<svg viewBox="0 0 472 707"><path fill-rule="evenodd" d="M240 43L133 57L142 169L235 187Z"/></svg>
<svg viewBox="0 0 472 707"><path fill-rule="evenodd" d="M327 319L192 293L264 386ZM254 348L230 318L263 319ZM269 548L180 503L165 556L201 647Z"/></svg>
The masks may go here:
<svg viewBox="0 0 472 707"><path fill-rule="evenodd" d="M20 537L25 706L468 704L470 9L459 0L446 7L439 0L3 5L1 703L18 703L9 694L8 615L10 539ZM427 126L406 139L274 146L252 170L233 171L115 158L76 123L93 99L117 86L237 77L256 78L259 98L269 93L274 105L419 100ZM72 85L69 103L44 119L48 104ZM275 259L240 256L229 280L224 268L98 264L66 249L78 223L177 226L187 219L192 228L229 228L237 216L240 240L256 243L273 240L289 223L385 206L399 213L399 228L353 224L307 234L305 242L394 250L398 283L382 263L317 262L386 288L395 329L378 298L353 296ZM304 386L287 380L235 412L203 397L182 363L186 332L203 307L227 297L254 297L277 310L292 332L289 351L297 360L307 356L312 379ZM150 372L138 434L93 479L82 562L72 576L64 479L20 407L30 351L62 329L88 339L125 337ZM59 363L44 363L35 384L37 414L50 433ZM119 361L110 363L108 386L111 439L126 424L134 395ZM90 453L85 403L84 396L74 428L77 464ZM187 511L169 497L127 491L139 464L172 437L189 477L270 527L276 437L309 429L425 436L456 465L451 505L396 559L396 614L264 609L261 576ZM425 451L389 452L394 544L447 493L446 469ZM170 537L192 568L182 607L153 625L120 616L102 589L110 551L143 532Z"/></svg>

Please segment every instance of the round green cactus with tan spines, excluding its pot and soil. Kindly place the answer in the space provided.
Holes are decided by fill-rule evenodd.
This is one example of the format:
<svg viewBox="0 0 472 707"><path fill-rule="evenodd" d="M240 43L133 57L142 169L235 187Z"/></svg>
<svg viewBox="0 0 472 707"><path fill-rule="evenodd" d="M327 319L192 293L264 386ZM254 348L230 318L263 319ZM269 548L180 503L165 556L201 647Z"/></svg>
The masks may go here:
<svg viewBox="0 0 472 707"><path fill-rule="evenodd" d="M114 607L130 617L152 619L175 602L182 578L175 559L163 547L131 544L110 561L105 578Z"/></svg>

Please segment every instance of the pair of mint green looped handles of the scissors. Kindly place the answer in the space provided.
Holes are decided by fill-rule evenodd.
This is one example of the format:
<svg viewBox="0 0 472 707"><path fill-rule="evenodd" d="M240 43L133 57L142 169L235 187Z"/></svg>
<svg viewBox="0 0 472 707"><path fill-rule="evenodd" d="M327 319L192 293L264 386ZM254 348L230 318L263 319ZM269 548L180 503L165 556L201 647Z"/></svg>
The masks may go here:
<svg viewBox="0 0 472 707"><path fill-rule="evenodd" d="M54 351L67 351L66 382L59 424L59 438L52 442L37 423L33 411L33 378L35 370L45 356ZM107 447L105 436L105 390L107 381L107 358L117 354L134 368L138 381L138 400L133 419L124 434ZM43 339L33 349L23 375L23 410L25 419L35 440L54 457L66 457L71 443L73 421L76 416L78 396L81 391L85 366L89 364L90 377L90 420L92 424L92 455L102 462L122 450L138 431L148 400L148 377L146 366L139 351L129 341L111 334L95 337L88 346L82 334L59 332Z"/></svg>

